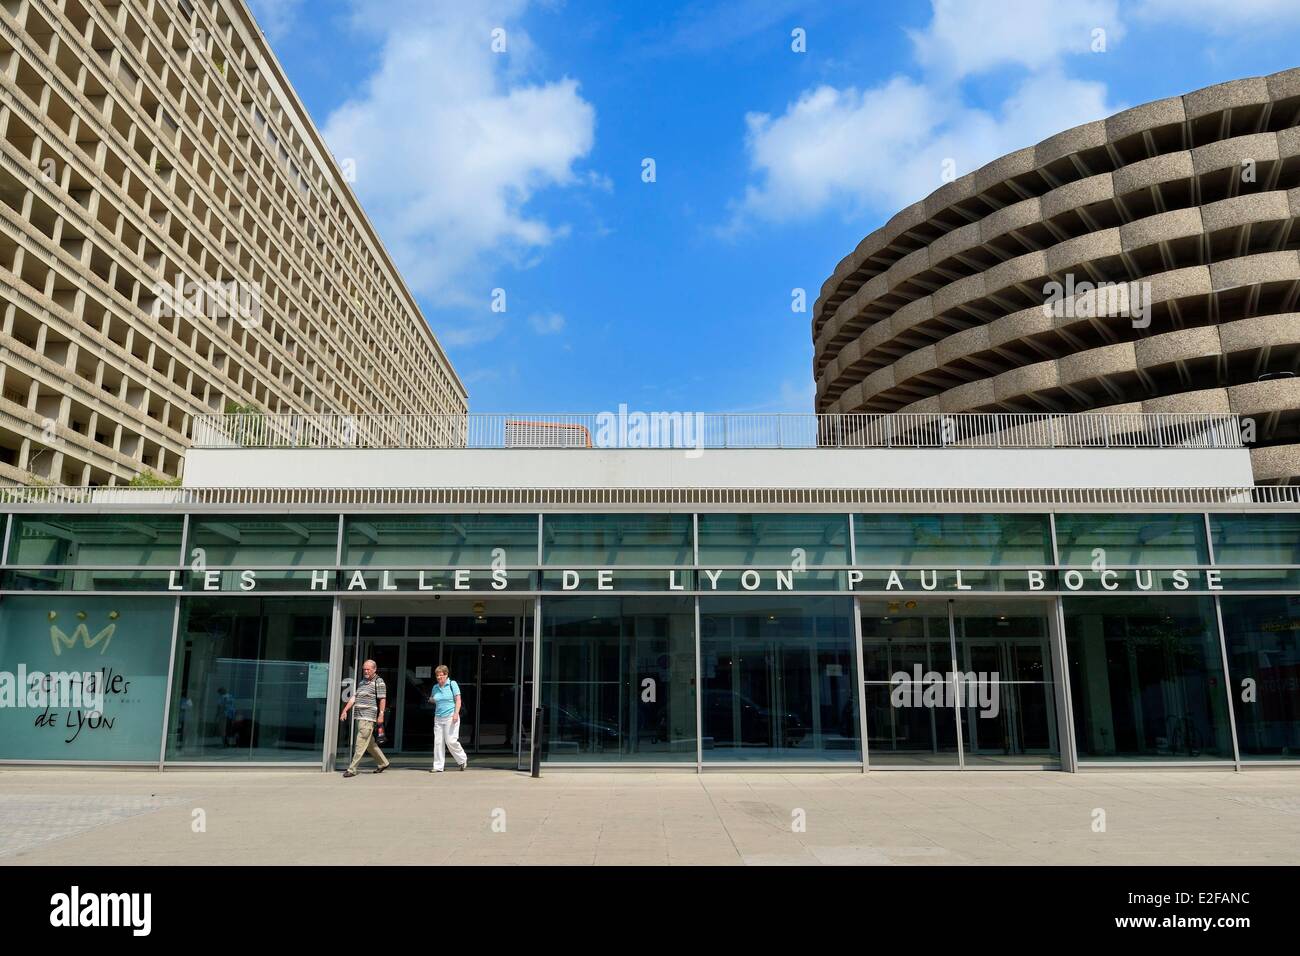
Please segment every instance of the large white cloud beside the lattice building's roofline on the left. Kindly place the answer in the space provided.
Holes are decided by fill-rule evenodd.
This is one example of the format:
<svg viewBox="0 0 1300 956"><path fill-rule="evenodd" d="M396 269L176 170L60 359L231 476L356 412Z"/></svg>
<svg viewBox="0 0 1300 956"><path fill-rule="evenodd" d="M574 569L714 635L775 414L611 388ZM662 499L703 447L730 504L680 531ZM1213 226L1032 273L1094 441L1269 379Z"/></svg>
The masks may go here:
<svg viewBox="0 0 1300 956"><path fill-rule="evenodd" d="M525 78L525 7L394 0L382 17L359 8L358 29L384 31L378 66L324 126L335 156L355 160L354 189L403 276L443 306L482 306L472 273L521 264L567 234L528 203L588 182L575 164L592 150L595 111L572 78ZM504 56L491 49L498 27ZM481 341L491 325L465 334Z"/></svg>

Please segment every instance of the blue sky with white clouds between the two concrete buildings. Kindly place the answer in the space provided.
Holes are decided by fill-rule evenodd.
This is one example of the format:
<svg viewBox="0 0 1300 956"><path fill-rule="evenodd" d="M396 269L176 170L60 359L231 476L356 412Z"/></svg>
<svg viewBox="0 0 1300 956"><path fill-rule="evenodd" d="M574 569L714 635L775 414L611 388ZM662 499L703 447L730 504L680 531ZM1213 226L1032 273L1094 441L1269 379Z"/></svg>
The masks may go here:
<svg viewBox="0 0 1300 956"><path fill-rule="evenodd" d="M1300 65L1300 0L251 7L473 411L811 411L822 282L945 161Z"/></svg>

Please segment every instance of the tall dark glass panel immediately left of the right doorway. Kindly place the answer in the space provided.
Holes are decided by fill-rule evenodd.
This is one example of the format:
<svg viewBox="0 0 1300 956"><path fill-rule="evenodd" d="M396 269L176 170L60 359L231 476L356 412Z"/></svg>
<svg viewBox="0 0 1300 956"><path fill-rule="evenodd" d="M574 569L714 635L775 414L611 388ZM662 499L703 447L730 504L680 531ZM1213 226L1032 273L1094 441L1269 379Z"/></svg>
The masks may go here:
<svg viewBox="0 0 1300 956"><path fill-rule="evenodd" d="M861 760L849 598L699 601L706 761Z"/></svg>

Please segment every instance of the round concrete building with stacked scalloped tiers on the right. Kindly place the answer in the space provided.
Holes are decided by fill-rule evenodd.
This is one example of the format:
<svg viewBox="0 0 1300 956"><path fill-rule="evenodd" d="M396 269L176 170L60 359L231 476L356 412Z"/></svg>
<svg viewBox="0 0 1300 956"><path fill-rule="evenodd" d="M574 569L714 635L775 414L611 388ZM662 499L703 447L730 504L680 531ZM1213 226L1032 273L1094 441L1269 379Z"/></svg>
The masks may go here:
<svg viewBox="0 0 1300 956"><path fill-rule="evenodd" d="M1256 480L1300 480L1300 69L941 186L836 267L812 339L819 412L1236 412Z"/></svg>

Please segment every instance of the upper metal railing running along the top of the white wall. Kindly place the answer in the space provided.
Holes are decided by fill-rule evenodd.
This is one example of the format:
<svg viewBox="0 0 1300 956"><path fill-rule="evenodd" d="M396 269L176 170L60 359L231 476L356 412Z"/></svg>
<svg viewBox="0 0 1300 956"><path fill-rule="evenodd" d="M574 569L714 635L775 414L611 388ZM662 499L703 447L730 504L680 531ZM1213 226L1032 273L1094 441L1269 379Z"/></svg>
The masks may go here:
<svg viewBox="0 0 1300 956"><path fill-rule="evenodd" d="M229 449L1060 449L1244 447L1236 415L200 415L194 447Z"/></svg>

